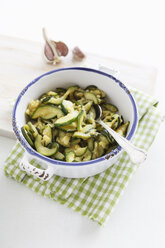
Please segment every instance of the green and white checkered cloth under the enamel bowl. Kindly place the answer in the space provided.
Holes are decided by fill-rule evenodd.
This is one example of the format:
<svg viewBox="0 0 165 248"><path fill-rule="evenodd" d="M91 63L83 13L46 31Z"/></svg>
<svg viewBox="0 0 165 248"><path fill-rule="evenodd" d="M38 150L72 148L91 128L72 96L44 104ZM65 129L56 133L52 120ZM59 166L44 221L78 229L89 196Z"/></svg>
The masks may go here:
<svg viewBox="0 0 165 248"><path fill-rule="evenodd" d="M148 150L151 146L163 115L158 111L156 99L135 89L131 90L139 112L139 125L133 144ZM24 149L16 143L4 165L5 174L19 183L26 185L36 193L65 204L67 207L86 215L100 225L105 224L121 194L138 165L132 164L123 152L120 159L106 171L89 178L69 179L53 176L43 182L19 168ZM31 163L40 167L35 160Z"/></svg>

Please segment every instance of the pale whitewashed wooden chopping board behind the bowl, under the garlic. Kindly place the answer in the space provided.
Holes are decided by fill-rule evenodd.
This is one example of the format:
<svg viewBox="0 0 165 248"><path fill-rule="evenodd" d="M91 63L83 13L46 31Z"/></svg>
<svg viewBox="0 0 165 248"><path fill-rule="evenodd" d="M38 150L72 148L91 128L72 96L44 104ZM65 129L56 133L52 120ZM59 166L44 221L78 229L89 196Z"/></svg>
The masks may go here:
<svg viewBox="0 0 165 248"><path fill-rule="evenodd" d="M57 65L42 58L43 44L0 35L0 135L14 138L11 125L12 100L34 78L60 67L103 65L119 71L118 78L127 85L153 95L157 71L153 67L87 53L82 62L72 61L71 54Z"/></svg>

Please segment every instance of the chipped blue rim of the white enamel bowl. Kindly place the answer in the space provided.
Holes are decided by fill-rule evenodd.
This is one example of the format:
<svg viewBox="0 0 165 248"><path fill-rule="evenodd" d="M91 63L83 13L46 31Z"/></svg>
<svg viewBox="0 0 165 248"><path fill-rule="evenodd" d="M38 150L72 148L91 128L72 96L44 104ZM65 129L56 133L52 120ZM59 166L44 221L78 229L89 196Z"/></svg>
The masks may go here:
<svg viewBox="0 0 165 248"><path fill-rule="evenodd" d="M132 138L132 136L134 135L136 128L137 128L137 124L138 124L138 112L137 112L137 107L136 107L136 103L135 100L132 96L132 94L130 93L129 89L117 78L115 78L114 76L105 73L103 71L100 70L96 70L96 69L92 69L92 68L87 68L87 67L67 67L67 68L60 68L60 69L55 69L55 70L51 70L49 72L46 72L42 75L40 75L39 77L35 78L32 82L30 82L22 91L21 93L18 95L15 105L14 105L14 109L13 109L13 113L12 113L12 126L13 126L13 131L17 137L17 139L19 140L19 142L21 143L21 145L25 148L25 150L30 153L32 156L38 157L39 159L42 159L46 162L49 162L51 164L58 164L58 165L63 165L63 166L84 166L84 165L90 165L90 164L95 164L98 162L102 162L105 161L106 159L110 159L112 157L114 157L115 155L117 155L119 152L122 151L122 148L120 146L118 146L115 150L111 151L109 154L106 154L100 158L94 159L94 160L90 160L90 161L86 161L86 162L73 162L73 163L68 163L68 162L63 162L63 161L59 161L59 160L54 160L51 159L49 157L43 156L40 153L38 153L36 150L34 150L29 143L26 141L26 139L24 138L24 136L22 135L22 132L19 130L17 123L16 123L16 110L17 110L17 106L21 100L21 98L23 97L23 95L25 94L25 92L30 88L30 86L32 86L33 84L35 84L36 82L38 82L41 78L52 74L52 73L56 73L56 72L60 72L60 71L66 71L66 70L82 70L82 71L89 71L89 72L93 72L93 73L98 73L101 74L103 76L106 76L108 78L111 78L114 80L114 82L116 82L125 92L126 94L129 96L132 106L133 106L133 111L134 111L134 122L132 125L132 128L129 132L129 134L127 135L126 139L130 140Z"/></svg>

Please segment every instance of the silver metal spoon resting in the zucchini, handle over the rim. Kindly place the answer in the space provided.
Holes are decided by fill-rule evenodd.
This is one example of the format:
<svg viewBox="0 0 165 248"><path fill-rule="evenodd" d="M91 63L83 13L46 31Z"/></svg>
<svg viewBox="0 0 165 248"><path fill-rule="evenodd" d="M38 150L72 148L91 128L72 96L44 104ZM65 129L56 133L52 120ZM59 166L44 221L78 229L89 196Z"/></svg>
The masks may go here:
<svg viewBox="0 0 165 248"><path fill-rule="evenodd" d="M107 126L102 120L102 109L98 104L93 105L96 111L96 118L95 120L102 125L111 135L112 137L116 140L116 142L127 152L127 154L130 157L130 160L134 164L140 164L146 160L147 157L147 152L132 145L130 141L128 141L126 138L123 136L119 135L116 133L112 128Z"/></svg>

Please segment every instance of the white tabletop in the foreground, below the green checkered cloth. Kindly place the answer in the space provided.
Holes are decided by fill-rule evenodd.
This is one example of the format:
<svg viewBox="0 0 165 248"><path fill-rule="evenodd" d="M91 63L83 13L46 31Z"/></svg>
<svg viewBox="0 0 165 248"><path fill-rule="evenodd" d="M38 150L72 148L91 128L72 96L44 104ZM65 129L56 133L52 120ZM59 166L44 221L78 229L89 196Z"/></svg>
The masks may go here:
<svg viewBox="0 0 165 248"><path fill-rule="evenodd" d="M0 137L1 165L14 143L14 140ZM6 178L1 168L0 247L163 248L163 144L162 127L147 161L137 170L105 227Z"/></svg>

